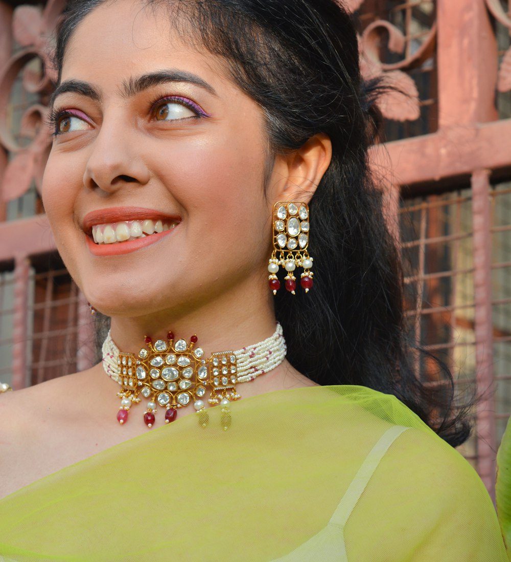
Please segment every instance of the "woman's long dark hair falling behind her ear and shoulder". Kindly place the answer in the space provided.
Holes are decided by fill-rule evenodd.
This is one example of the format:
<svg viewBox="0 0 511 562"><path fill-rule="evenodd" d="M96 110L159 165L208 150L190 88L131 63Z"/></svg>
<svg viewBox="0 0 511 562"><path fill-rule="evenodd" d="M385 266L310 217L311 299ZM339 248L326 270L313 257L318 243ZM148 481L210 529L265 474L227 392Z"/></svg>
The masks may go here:
<svg viewBox="0 0 511 562"><path fill-rule="evenodd" d="M73 31L104 1L68 7L57 35L59 72ZM361 78L351 16L334 0L145 2L174 10L190 44L224 57L263 108L274 153L317 133L332 141L332 162L310 204L314 289L275 298L288 360L319 384L391 393L450 444L462 443L469 424L455 409L449 371L444 384L428 387L411 366L398 251L367 162L380 123L379 84Z"/></svg>

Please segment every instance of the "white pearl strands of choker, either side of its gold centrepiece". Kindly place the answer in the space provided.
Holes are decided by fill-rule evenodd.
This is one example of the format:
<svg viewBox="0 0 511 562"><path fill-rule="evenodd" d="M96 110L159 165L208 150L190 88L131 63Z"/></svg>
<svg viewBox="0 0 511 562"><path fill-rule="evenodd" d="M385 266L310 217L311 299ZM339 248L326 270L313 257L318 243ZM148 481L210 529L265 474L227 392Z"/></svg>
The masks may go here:
<svg viewBox="0 0 511 562"><path fill-rule="evenodd" d="M118 382L121 368L117 364L119 348L114 343L110 332L103 343L103 369L107 375ZM277 323L277 328L272 336L253 346L243 347L234 351L236 355L237 378L236 383L245 383L260 375L275 369L286 357L286 340L282 333L282 326Z"/></svg>

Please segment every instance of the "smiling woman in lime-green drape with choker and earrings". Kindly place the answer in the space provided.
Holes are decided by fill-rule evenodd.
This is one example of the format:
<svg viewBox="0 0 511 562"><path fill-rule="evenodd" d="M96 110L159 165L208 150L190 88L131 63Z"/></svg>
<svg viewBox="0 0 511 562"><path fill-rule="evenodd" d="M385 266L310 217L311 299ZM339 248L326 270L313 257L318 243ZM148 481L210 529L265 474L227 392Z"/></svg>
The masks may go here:
<svg viewBox="0 0 511 562"><path fill-rule="evenodd" d="M407 363L347 14L86 0L56 57L44 205L111 337L2 397L4 559L506 560Z"/></svg>

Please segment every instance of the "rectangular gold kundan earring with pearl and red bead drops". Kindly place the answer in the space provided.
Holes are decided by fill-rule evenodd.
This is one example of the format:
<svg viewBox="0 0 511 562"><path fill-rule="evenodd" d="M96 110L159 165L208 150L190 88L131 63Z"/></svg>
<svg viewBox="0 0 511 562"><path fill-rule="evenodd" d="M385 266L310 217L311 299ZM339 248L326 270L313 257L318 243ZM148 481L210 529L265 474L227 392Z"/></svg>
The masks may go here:
<svg viewBox="0 0 511 562"><path fill-rule="evenodd" d="M303 268L300 284L308 293L312 288L312 258L309 247L309 205L301 202L279 201L273 206L273 252L268 264L268 284L273 294L280 289L277 277L279 266L286 270L286 289L296 294L296 268Z"/></svg>

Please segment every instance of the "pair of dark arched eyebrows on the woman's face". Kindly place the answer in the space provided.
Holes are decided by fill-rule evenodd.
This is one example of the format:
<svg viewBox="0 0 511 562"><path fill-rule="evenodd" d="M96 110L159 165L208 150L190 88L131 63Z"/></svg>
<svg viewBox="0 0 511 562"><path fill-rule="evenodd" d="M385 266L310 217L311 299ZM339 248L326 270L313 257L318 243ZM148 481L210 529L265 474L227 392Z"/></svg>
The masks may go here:
<svg viewBox="0 0 511 562"><path fill-rule="evenodd" d="M147 74L142 74L141 76L131 76L128 80L123 81L121 95L125 98L130 98L136 96L136 94L144 92L144 90L148 88L169 82L185 82L188 84L194 84L205 89L213 96L218 97L215 89L205 80L202 80L200 76L184 70L159 70L155 72L148 72ZM57 96L67 92L78 93L82 96L91 98L94 101L100 102L102 99L101 93L93 85L81 80L66 80L57 86L50 97L50 107L53 107L53 103L55 102Z"/></svg>

